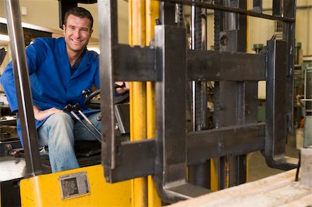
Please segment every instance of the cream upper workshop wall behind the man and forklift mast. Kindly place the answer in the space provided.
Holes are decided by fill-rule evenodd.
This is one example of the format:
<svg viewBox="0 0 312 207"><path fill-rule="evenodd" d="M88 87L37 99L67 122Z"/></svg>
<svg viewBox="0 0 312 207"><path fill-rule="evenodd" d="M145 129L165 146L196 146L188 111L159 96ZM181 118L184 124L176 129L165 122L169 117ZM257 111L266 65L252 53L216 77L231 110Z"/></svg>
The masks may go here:
<svg viewBox="0 0 312 207"><path fill-rule="evenodd" d="M119 4L119 42L128 43L128 3L117 0ZM271 1L263 1L263 10L272 8ZM27 8L27 15L21 17L22 21L47 28L58 28L58 1L57 0L20 0L20 6ZM94 37L98 38L97 4L80 4L92 12L94 16ZM251 8L252 0L248 0ZM312 55L312 0L297 0L297 6L310 6L309 9L297 10L296 42L302 42L303 55ZM210 11L211 12L211 11ZM4 0L0 0L0 17L5 17ZM214 45L213 15L208 17L208 46ZM249 39L248 52L252 53L252 44L266 44L274 34L274 21L256 17L248 18Z"/></svg>

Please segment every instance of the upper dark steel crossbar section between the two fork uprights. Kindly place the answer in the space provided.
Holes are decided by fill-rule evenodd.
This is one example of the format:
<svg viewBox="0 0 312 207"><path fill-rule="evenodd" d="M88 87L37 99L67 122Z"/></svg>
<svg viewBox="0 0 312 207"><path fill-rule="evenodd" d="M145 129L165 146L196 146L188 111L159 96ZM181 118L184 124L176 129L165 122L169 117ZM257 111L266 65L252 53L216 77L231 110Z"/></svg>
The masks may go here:
<svg viewBox="0 0 312 207"><path fill-rule="evenodd" d="M187 52L188 80L266 80L264 55L201 50Z"/></svg>

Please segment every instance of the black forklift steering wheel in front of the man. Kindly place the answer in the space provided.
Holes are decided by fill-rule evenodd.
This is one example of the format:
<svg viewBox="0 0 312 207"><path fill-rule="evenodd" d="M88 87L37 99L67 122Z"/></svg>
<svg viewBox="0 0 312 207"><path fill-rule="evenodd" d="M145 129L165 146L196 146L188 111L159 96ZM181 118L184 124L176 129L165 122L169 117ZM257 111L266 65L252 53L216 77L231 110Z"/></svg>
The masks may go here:
<svg viewBox="0 0 312 207"><path fill-rule="evenodd" d="M116 89L117 87L114 87ZM89 109L100 109L101 108L101 100L94 100L93 98L100 94L100 89L90 92L89 89L83 91L83 96L85 96L85 105L89 107ZM114 105L123 104L129 101L129 92L115 96L114 97Z"/></svg>

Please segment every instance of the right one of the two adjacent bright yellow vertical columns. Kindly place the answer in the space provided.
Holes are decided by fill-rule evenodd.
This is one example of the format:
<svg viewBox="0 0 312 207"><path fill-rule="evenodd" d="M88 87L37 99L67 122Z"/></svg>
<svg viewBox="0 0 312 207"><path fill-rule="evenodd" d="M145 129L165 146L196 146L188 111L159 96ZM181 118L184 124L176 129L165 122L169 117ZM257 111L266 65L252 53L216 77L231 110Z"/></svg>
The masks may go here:
<svg viewBox="0 0 312 207"><path fill-rule="evenodd" d="M159 1L146 0L146 45L150 44L159 18ZM146 82L147 138L155 138L155 83ZM148 207L162 206L152 176L148 176Z"/></svg>

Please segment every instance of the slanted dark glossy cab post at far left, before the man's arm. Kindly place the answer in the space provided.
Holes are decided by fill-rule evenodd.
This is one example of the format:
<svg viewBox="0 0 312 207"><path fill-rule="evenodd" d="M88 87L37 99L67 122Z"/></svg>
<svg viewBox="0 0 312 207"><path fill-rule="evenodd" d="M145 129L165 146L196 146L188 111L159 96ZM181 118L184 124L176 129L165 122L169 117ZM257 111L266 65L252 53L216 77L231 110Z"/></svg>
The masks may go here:
<svg viewBox="0 0 312 207"><path fill-rule="evenodd" d="M42 174L39 158L39 146L35 117L33 116L33 98L29 83L29 74L26 61L24 32L21 28L19 1L6 0L6 15L8 19L8 33L12 48L12 66L15 76L15 88L23 136L26 177Z"/></svg>

